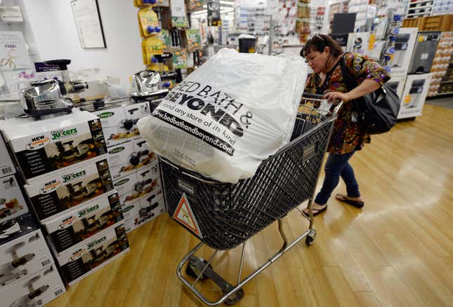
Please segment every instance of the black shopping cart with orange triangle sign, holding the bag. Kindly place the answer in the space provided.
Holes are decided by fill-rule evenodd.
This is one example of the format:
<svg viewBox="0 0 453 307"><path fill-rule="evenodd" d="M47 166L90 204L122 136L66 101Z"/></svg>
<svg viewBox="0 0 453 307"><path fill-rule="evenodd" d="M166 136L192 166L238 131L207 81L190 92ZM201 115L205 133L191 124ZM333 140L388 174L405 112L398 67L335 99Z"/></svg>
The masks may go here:
<svg viewBox="0 0 453 307"><path fill-rule="evenodd" d="M254 177L237 184L216 182L196 172L185 170L160 157L167 211L173 219L195 234L201 242L180 261L178 278L204 303L237 303L244 291L242 286L272 264L284 252L306 238L306 245L315 240L311 202L336 113L341 104L331 107L322 95L303 95L291 142L261 163ZM333 110L331 110L333 109ZM331 110L331 111L330 111ZM309 226L296 240L288 243L282 228L282 217L308 200ZM301 211L299 208L297 208ZM301 212L302 213L302 212ZM301 214L306 217L305 214ZM278 221L283 239L282 248L253 273L242 276L244 247L247 239L266 226ZM236 285L230 285L212 268L211 262L219 250L229 250L242 244ZM196 257L197 250L207 245L214 249L208 261ZM181 274L195 278L190 282ZM209 278L221 287L223 296L209 301L195 287L199 280Z"/></svg>

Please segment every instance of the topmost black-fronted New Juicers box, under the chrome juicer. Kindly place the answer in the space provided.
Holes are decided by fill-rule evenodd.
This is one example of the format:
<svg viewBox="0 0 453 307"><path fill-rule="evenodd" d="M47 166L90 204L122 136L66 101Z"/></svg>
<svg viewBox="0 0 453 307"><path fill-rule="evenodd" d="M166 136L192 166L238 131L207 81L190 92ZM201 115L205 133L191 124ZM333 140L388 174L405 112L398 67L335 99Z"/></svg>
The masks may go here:
<svg viewBox="0 0 453 307"><path fill-rule="evenodd" d="M100 119L86 111L41 121L11 118L0 125L27 183L107 152Z"/></svg>

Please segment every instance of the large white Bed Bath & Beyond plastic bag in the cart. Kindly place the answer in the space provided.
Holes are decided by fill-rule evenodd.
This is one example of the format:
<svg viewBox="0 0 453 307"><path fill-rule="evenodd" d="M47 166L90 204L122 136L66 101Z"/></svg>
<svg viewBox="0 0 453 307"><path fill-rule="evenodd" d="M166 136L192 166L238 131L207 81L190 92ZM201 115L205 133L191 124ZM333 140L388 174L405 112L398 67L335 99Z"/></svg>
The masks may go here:
<svg viewBox="0 0 453 307"><path fill-rule="evenodd" d="M306 76L301 57L225 48L173 88L138 128L160 156L236 183L289 142Z"/></svg>

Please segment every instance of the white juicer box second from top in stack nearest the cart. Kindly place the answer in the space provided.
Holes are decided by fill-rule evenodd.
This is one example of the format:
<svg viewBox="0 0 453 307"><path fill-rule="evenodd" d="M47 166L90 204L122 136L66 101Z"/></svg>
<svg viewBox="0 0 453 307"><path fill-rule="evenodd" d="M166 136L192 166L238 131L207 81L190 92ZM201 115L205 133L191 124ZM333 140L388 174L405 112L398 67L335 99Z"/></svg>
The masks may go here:
<svg viewBox="0 0 453 307"><path fill-rule="evenodd" d="M141 137L109 147L107 161L112 179L119 179L147 165L157 163L157 155Z"/></svg>

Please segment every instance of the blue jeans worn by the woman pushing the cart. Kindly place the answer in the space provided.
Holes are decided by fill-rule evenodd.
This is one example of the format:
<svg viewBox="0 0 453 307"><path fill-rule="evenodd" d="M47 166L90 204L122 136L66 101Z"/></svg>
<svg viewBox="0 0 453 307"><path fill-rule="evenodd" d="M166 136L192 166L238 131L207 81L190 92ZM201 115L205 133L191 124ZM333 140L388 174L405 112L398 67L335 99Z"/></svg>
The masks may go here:
<svg viewBox="0 0 453 307"><path fill-rule="evenodd" d="M340 176L346 184L346 191L349 197L360 197L359 185L355 181L354 170L348 163L350 157L353 156L355 151L344 153L342 155L331 154L327 158L326 165L324 166L324 182L320 193L317 193L315 203L324 205L327 203L332 191L339 184Z"/></svg>

